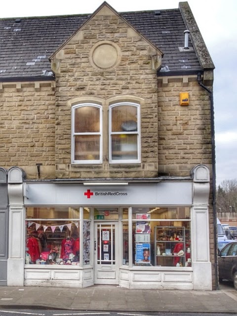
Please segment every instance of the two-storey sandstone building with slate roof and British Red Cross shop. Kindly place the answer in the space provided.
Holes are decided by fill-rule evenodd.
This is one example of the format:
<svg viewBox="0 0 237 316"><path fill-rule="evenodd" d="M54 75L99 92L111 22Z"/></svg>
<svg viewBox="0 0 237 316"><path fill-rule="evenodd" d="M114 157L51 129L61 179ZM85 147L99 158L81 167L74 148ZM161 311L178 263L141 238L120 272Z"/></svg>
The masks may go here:
<svg viewBox="0 0 237 316"><path fill-rule="evenodd" d="M0 28L0 284L214 289L214 65L188 2Z"/></svg>

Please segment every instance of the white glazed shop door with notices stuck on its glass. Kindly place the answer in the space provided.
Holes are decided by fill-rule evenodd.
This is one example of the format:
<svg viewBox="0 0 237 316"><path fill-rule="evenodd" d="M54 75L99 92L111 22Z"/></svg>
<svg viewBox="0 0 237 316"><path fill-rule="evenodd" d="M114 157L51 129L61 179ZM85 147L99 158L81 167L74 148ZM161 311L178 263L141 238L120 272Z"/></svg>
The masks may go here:
<svg viewBox="0 0 237 316"><path fill-rule="evenodd" d="M94 283L118 284L118 223L94 225Z"/></svg>

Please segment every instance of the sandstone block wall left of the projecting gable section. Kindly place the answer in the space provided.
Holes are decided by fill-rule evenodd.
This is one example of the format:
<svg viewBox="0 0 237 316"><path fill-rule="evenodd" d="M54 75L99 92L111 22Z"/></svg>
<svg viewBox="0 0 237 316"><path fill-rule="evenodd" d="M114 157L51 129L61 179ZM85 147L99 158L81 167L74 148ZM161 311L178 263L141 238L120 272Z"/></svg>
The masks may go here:
<svg viewBox="0 0 237 316"><path fill-rule="evenodd" d="M55 177L54 82L0 85L0 166L23 168L28 178Z"/></svg>

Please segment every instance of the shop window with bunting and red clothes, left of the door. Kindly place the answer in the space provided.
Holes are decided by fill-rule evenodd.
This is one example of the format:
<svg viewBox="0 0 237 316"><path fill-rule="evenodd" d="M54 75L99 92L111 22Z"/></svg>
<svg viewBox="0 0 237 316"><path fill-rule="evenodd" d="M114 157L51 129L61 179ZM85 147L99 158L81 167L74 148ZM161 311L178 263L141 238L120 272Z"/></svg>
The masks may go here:
<svg viewBox="0 0 237 316"><path fill-rule="evenodd" d="M26 264L79 265L79 262L79 209L27 207Z"/></svg>

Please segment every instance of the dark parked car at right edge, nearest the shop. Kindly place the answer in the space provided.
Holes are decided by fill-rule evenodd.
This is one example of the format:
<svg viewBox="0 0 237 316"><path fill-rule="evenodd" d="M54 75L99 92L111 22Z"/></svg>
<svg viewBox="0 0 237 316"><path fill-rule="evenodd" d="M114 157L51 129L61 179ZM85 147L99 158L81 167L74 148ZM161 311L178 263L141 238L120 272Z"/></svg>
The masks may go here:
<svg viewBox="0 0 237 316"><path fill-rule="evenodd" d="M219 280L233 281L237 290L237 241L229 242L221 251L218 250Z"/></svg>

